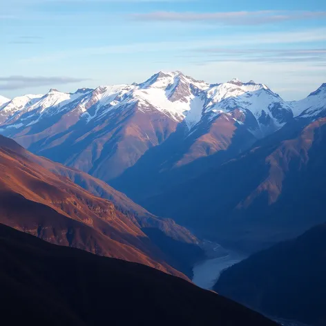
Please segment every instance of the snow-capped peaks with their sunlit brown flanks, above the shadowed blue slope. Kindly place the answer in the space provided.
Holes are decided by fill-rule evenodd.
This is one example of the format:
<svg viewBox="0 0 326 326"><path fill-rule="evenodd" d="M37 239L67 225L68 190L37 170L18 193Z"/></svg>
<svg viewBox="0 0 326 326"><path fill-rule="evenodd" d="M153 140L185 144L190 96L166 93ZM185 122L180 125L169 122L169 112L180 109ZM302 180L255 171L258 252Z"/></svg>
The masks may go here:
<svg viewBox="0 0 326 326"><path fill-rule="evenodd" d="M237 151L243 151L294 118L323 115L325 89L324 84L306 99L285 102L253 80L209 84L180 71L160 71L142 83L0 97L0 132L35 153L109 180L173 134L182 149L171 166L225 151L240 134L244 145Z"/></svg>

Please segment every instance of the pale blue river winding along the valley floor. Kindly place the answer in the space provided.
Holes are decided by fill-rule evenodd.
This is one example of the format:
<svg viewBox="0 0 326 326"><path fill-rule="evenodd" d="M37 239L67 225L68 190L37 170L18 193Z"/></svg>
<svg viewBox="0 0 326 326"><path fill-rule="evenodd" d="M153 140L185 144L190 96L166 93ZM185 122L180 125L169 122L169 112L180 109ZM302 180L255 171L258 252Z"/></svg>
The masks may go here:
<svg viewBox="0 0 326 326"><path fill-rule="evenodd" d="M211 289L224 269L247 258L241 253L225 249L210 241L204 242L204 250L209 259L193 267L193 282L203 289Z"/></svg>

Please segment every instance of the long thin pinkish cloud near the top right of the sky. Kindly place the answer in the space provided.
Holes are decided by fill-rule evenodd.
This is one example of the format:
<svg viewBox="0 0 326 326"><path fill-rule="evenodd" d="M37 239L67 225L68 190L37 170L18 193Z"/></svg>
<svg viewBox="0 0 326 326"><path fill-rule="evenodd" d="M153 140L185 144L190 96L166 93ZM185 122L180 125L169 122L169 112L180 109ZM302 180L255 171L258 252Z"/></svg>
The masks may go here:
<svg viewBox="0 0 326 326"><path fill-rule="evenodd" d="M325 11L259 10L238 12L149 12L131 15L137 21L213 22L222 25L261 25L282 21L321 19Z"/></svg>

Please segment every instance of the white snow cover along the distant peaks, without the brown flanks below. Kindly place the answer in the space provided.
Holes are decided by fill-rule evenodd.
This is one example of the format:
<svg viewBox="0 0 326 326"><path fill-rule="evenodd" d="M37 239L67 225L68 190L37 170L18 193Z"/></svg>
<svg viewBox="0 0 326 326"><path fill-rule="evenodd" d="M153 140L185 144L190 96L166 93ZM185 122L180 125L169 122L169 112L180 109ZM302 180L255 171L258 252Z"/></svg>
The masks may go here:
<svg viewBox="0 0 326 326"><path fill-rule="evenodd" d="M250 115L251 131L257 137L280 128L293 117L292 107L296 106L283 101L265 84L252 80L244 83L234 78L224 84L210 85L180 71L160 71L140 84L99 86L95 90L81 88L76 93L61 93L51 88L43 96L24 95L11 101L0 97L0 116L3 128L14 122L21 126L21 117L23 126L28 126L60 111L78 108L80 118L90 122L132 105L143 113L160 111L177 122L184 121L190 129L204 117L214 119L238 109Z"/></svg>

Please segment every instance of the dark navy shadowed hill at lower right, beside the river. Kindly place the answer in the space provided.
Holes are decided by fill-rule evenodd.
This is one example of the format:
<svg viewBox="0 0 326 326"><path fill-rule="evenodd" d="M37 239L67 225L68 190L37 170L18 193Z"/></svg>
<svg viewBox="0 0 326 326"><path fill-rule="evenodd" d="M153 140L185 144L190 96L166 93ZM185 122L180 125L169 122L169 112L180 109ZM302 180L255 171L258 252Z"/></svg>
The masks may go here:
<svg viewBox="0 0 326 326"><path fill-rule="evenodd" d="M269 316L326 325L326 224L230 267L214 289Z"/></svg>

